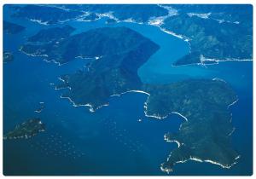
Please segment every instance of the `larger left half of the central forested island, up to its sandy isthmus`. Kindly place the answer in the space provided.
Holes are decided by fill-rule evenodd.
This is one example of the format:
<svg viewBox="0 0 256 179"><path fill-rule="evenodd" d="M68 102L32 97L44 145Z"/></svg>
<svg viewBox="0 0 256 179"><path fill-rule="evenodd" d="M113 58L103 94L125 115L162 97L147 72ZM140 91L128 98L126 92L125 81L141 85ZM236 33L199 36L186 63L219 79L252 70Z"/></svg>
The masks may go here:
<svg viewBox="0 0 256 179"><path fill-rule="evenodd" d="M70 26L42 30L21 48L60 64L88 58L83 70L62 77L65 83L58 88L70 88L62 97L96 109L108 103L110 95L141 89L137 69L159 49L157 44L127 27L96 28L69 36L72 30Z"/></svg>

